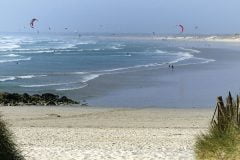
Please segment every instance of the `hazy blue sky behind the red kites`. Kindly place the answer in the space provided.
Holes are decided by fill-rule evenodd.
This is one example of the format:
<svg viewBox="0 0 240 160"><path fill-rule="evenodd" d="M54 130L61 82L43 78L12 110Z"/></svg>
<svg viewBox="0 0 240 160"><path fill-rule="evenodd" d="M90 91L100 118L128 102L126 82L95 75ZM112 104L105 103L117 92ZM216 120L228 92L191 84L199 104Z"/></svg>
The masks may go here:
<svg viewBox="0 0 240 160"><path fill-rule="evenodd" d="M240 33L239 0L1 0L0 32ZM198 26L198 29L195 29ZM66 31L65 31L66 32Z"/></svg>

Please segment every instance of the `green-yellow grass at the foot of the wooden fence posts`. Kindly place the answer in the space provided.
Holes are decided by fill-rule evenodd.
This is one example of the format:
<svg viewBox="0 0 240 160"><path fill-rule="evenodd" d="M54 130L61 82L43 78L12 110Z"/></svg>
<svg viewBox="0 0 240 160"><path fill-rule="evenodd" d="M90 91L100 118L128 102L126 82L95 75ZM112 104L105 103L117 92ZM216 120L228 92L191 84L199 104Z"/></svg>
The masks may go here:
<svg viewBox="0 0 240 160"><path fill-rule="evenodd" d="M196 158L199 160L240 159L240 131L233 126L225 132L211 128L209 133L197 137Z"/></svg>

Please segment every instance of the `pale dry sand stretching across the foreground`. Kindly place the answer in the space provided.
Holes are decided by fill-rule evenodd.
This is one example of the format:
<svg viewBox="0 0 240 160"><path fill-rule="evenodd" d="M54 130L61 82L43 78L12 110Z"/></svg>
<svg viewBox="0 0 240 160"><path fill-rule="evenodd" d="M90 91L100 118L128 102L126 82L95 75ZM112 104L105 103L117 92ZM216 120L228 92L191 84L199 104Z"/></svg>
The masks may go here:
<svg viewBox="0 0 240 160"><path fill-rule="evenodd" d="M1 107L27 160L194 159L213 109Z"/></svg>

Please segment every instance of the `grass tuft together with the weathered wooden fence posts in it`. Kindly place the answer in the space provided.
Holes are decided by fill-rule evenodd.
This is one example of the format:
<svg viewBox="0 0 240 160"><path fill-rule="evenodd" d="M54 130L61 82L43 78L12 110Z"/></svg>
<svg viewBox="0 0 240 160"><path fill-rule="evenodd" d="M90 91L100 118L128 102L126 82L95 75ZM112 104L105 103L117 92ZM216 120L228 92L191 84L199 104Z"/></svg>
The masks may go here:
<svg viewBox="0 0 240 160"><path fill-rule="evenodd" d="M207 133L197 137L195 154L201 160L240 159L239 97L231 93L224 104L218 97L217 106Z"/></svg>

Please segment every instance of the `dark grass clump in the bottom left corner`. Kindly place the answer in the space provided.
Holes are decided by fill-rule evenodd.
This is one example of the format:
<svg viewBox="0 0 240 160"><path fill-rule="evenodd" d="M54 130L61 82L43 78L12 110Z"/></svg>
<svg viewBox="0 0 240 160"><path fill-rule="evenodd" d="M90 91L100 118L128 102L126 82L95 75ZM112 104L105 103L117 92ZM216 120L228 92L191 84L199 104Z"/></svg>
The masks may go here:
<svg viewBox="0 0 240 160"><path fill-rule="evenodd" d="M0 160L24 160L13 141L12 134L0 117Z"/></svg>

